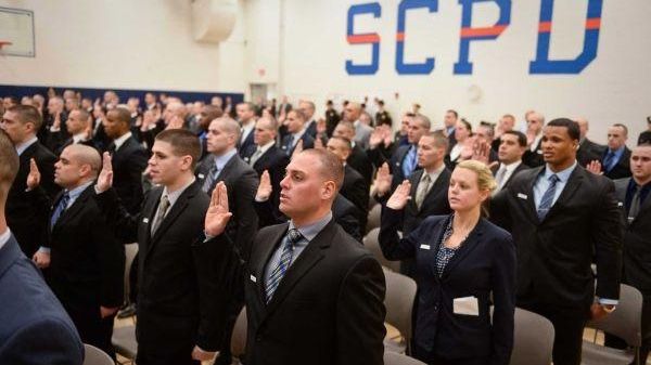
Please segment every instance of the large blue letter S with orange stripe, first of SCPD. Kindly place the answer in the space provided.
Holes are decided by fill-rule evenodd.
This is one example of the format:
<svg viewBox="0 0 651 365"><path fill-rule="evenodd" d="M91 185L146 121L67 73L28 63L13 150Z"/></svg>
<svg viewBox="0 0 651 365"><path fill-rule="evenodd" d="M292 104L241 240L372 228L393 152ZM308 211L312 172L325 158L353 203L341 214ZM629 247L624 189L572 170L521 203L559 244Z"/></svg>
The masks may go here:
<svg viewBox="0 0 651 365"><path fill-rule="evenodd" d="M378 2L352 5L348 9L348 24L346 26L346 40L350 44L371 44L372 57L370 65L354 64L346 60L346 73L348 75L373 75L380 67L380 35L376 32L355 34L355 16L360 14L373 14L373 17L380 17L382 8Z"/></svg>

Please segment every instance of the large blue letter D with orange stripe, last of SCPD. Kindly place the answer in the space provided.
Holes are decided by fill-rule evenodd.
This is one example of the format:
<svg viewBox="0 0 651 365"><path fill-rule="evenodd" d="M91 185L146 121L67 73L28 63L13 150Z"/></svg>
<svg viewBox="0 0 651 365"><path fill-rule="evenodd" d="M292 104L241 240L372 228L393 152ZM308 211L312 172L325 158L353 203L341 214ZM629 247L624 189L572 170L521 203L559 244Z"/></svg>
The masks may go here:
<svg viewBox="0 0 651 365"><path fill-rule="evenodd" d="M529 74L580 74L596 57L601 28L603 0L588 0L584 49L574 60L549 60L553 0L541 0L536 60L529 63Z"/></svg>

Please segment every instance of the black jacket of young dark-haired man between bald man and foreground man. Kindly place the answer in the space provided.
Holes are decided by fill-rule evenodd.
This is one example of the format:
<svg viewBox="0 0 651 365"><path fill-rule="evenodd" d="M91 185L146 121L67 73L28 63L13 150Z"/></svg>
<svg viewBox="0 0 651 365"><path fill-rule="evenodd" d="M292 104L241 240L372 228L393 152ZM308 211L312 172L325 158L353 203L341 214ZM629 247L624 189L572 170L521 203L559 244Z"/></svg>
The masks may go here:
<svg viewBox="0 0 651 365"><path fill-rule="evenodd" d="M129 214L115 191L95 195L106 221L123 242L138 242L139 351L173 352L199 344L220 348L224 331L224 294L216 284L227 275L226 264L215 264L216 245L203 245L204 219L209 198L195 181L179 196L158 230L151 225L163 187L152 188L138 216Z"/></svg>

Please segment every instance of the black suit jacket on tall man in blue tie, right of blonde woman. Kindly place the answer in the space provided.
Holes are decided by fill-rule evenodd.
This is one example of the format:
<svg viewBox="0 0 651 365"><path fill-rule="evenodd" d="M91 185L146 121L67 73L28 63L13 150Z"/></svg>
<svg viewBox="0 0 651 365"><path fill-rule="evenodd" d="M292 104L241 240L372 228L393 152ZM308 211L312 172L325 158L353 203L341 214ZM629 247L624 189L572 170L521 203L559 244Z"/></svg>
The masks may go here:
<svg viewBox="0 0 651 365"><path fill-rule="evenodd" d="M518 248L519 300L587 310L595 295L620 297L622 230L612 181L576 166L540 221L534 184L545 167L520 172L492 203L492 217ZM597 291L590 264L597 263Z"/></svg>

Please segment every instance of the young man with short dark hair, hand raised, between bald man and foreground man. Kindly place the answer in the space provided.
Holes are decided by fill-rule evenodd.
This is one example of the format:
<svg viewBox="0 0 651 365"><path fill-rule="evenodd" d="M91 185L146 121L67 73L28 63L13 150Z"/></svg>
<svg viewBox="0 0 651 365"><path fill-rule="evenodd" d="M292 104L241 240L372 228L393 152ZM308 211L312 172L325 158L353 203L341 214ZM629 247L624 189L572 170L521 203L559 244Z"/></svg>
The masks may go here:
<svg viewBox="0 0 651 365"><path fill-rule="evenodd" d="M221 347L225 296L215 288L229 269L215 264L215 246L200 245L209 198L193 174L196 135L163 131L152 152L150 175L159 186L148 193L142 212L131 216L119 203L106 153L95 200L122 242L138 242L137 363L196 365Z"/></svg>

